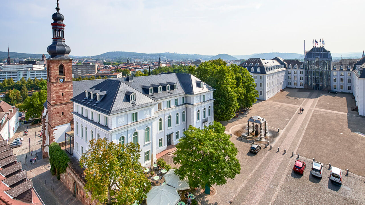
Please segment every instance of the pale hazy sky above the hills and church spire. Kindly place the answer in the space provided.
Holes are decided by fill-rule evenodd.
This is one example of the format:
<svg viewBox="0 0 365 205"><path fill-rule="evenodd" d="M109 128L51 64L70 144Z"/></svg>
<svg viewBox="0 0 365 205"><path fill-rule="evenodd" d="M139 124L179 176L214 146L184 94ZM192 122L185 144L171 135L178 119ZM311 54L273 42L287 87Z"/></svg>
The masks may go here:
<svg viewBox="0 0 365 205"><path fill-rule="evenodd" d="M56 0L1 2L0 51L47 54ZM365 49L364 0L59 0L70 55Z"/></svg>

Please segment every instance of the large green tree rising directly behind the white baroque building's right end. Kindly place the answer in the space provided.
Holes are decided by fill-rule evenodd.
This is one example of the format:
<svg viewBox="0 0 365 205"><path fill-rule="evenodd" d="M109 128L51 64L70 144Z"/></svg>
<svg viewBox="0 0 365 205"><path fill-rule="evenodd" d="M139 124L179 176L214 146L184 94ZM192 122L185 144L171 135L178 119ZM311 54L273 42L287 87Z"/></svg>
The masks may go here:
<svg viewBox="0 0 365 205"><path fill-rule="evenodd" d="M239 89L237 89L235 73L226 66L226 62L222 59L205 61L191 74L212 86L214 101L214 118L216 120L227 121L235 116L238 110L237 98L239 97Z"/></svg>

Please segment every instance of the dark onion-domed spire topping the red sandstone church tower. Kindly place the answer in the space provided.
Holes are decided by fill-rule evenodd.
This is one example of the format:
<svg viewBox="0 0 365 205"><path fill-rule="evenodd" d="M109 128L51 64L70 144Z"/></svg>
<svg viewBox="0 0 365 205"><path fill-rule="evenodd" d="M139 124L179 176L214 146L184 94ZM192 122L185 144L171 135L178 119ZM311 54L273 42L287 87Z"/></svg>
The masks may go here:
<svg viewBox="0 0 365 205"><path fill-rule="evenodd" d="M57 0L56 12L52 15L53 23L51 23L53 36L52 44L48 46L47 52L49 53L49 58L47 59L71 59L68 54L70 54L71 49L65 43L65 24L63 20L64 15L59 12L59 4Z"/></svg>

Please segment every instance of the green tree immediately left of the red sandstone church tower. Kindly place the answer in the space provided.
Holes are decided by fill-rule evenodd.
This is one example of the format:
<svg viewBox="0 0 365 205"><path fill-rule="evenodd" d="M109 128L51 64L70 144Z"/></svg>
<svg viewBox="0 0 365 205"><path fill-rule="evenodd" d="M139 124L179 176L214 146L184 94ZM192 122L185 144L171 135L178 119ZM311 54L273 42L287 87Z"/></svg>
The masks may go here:
<svg viewBox="0 0 365 205"><path fill-rule="evenodd" d="M33 93L32 96L24 99L22 109L26 110L25 119L41 117L43 111L43 103L47 100L47 90L41 90Z"/></svg>

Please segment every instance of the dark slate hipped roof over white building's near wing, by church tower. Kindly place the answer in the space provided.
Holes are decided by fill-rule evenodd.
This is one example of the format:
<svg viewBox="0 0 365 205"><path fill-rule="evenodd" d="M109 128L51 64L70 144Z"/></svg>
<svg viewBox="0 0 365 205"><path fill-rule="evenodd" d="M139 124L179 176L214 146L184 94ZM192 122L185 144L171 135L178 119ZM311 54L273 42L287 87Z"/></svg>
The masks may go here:
<svg viewBox="0 0 365 205"><path fill-rule="evenodd" d="M103 96L100 96L100 101L96 100L96 93L99 92L93 92L94 96L92 99L91 94L89 93L88 98L85 99L86 89L84 92L73 97L71 101L85 105L107 115L144 107L146 105L157 104L154 100L151 100L149 97L125 84L121 78L105 79L89 89L100 90L99 92L103 94ZM136 93L136 101L130 102L129 95L126 92Z"/></svg>

